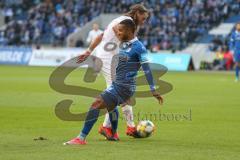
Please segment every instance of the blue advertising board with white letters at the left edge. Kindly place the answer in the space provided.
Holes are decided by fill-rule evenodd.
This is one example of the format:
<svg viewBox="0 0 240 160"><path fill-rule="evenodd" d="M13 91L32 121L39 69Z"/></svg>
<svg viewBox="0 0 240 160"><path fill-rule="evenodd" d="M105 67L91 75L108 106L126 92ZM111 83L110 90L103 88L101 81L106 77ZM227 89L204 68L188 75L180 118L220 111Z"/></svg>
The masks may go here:
<svg viewBox="0 0 240 160"><path fill-rule="evenodd" d="M0 47L0 64L28 65L31 56L31 48Z"/></svg>

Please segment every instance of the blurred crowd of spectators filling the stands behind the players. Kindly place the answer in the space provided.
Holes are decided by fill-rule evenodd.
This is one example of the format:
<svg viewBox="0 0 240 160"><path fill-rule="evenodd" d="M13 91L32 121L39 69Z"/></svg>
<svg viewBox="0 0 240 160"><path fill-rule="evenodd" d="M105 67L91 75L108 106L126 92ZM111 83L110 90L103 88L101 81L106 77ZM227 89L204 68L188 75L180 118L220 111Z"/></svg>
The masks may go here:
<svg viewBox="0 0 240 160"><path fill-rule="evenodd" d="M1 45L63 46L66 37L101 13L125 13L139 0L1 0ZM146 0L149 21L139 37L148 49L181 50L231 14L240 0Z"/></svg>

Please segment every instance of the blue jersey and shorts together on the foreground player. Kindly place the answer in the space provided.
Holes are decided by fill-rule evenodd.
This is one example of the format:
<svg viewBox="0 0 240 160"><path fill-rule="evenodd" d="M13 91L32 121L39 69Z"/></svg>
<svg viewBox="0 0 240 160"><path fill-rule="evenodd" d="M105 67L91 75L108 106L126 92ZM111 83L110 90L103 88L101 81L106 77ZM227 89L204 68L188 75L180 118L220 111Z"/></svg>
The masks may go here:
<svg viewBox="0 0 240 160"><path fill-rule="evenodd" d="M117 55L116 77L102 94L108 108L125 103L136 89L136 76L142 66L150 89L154 90L153 76L147 63L147 50L137 39L123 43Z"/></svg>

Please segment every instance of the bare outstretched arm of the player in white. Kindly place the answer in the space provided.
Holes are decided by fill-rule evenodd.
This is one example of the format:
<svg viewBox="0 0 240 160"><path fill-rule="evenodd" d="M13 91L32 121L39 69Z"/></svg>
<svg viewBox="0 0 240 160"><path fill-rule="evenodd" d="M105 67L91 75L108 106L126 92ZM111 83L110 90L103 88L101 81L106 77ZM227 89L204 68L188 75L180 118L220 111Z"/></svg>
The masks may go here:
<svg viewBox="0 0 240 160"><path fill-rule="evenodd" d="M89 55L91 55L92 51L100 44L100 42L102 41L103 38L103 33L100 34L99 36L97 36L89 45L88 49L86 51L84 51L83 54L81 54L78 59L77 59L77 63L81 63L83 61L85 61Z"/></svg>

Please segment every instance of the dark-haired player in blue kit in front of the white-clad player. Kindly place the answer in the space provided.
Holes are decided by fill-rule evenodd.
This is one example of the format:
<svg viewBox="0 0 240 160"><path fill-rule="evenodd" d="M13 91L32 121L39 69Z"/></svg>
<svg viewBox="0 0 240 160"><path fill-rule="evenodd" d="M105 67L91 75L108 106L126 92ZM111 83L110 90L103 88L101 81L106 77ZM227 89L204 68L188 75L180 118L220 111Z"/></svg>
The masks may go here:
<svg viewBox="0 0 240 160"><path fill-rule="evenodd" d="M114 120L118 118L118 115L111 115L111 113L116 113L112 112L116 106L129 103L136 89L135 78L140 67L143 68L152 95L160 104L163 103L163 98L155 90L152 72L146 58L146 48L134 35L136 29L135 23L131 19L125 19L119 23L117 28L117 35L122 44L118 54L116 77L112 85L93 102L79 136L64 143L65 145L86 144L86 137L97 121L100 109L107 109L109 112L113 134L112 137L108 137L108 140L119 140L116 132L117 121Z"/></svg>

